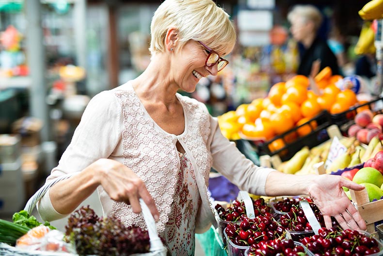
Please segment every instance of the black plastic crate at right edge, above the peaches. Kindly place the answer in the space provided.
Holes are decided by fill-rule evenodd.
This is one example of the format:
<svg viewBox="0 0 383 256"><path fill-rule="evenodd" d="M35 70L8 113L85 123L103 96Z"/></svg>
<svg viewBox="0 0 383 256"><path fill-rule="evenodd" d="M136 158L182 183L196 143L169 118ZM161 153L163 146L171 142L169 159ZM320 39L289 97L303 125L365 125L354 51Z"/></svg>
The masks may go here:
<svg viewBox="0 0 383 256"><path fill-rule="evenodd" d="M358 111L367 107L375 114L383 113L383 98L378 98L370 102L353 106L349 110L343 111L341 113L333 114L331 115L331 120L339 127L341 131L345 131L350 126L350 124L353 123Z"/></svg>

